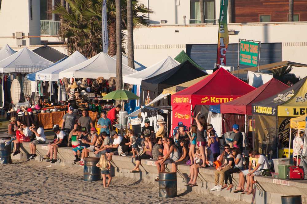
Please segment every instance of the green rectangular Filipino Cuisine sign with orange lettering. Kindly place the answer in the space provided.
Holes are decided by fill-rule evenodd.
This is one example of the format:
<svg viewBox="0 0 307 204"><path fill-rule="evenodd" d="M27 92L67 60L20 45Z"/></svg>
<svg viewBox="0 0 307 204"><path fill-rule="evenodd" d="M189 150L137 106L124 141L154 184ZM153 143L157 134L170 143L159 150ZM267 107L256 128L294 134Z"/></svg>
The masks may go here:
<svg viewBox="0 0 307 204"><path fill-rule="evenodd" d="M240 41L240 57L241 65L257 67L258 65L258 46L257 42Z"/></svg>

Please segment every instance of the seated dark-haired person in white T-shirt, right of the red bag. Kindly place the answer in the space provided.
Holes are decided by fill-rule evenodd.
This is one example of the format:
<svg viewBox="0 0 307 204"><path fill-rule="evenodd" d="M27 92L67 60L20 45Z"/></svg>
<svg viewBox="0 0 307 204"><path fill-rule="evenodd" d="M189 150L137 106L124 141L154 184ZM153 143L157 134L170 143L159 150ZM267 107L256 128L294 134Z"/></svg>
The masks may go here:
<svg viewBox="0 0 307 204"><path fill-rule="evenodd" d="M30 146L30 157L28 160L33 160L36 155L36 145L37 144L45 144L46 143L46 137L45 137L45 132L44 128L42 128L37 122L32 123L32 127L29 128L34 134L36 139L33 140L29 146Z"/></svg>

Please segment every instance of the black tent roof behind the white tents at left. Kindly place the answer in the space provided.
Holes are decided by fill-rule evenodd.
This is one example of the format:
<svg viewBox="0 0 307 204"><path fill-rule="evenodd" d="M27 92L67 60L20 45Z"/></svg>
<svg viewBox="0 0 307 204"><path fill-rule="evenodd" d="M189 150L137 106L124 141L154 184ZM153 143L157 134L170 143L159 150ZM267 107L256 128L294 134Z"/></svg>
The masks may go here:
<svg viewBox="0 0 307 204"><path fill-rule="evenodd" d="M32 51L38 54L39 56L44 57L45 59L52 61L52 62L57 62L60 59L63 59L64 57L68 57L67 55L61 53L60 51L52 47L49 47L48 45L41 46Z"/></svg>

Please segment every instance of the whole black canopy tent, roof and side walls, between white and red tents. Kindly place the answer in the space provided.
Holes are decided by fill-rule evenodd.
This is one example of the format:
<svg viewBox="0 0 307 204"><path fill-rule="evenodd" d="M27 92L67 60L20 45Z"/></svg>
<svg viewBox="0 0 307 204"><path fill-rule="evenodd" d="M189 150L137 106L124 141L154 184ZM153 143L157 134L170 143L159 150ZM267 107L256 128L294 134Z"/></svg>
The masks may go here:
<svg viewBox="0 0 307 204"><path fill-rule="evenodd" d="M207 75L204 71L198 69L191 62L185 61L184 63L166 71L165 73L142 80L141 84L141 105L146 105L151 102L155 97L163 92L163 89L181 84L198 77ZM169 99L170 100L170 99ZM161 100L157 105L169 105L170 101Z"/></svg>

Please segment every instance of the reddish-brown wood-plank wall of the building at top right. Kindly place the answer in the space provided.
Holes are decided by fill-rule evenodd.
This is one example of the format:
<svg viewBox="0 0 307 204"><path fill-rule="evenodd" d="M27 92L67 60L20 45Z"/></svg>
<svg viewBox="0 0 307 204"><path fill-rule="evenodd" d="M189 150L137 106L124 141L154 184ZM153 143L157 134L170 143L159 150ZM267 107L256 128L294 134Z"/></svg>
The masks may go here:
<svg viewBox="0 0 307 204"><path fill-rule="evenodd" d="M259 15L271 15L271 22L288 21L289 0L233 0L236 23L260 22ZM294 0L299 21L307 21L307 0Z"/></svg>

